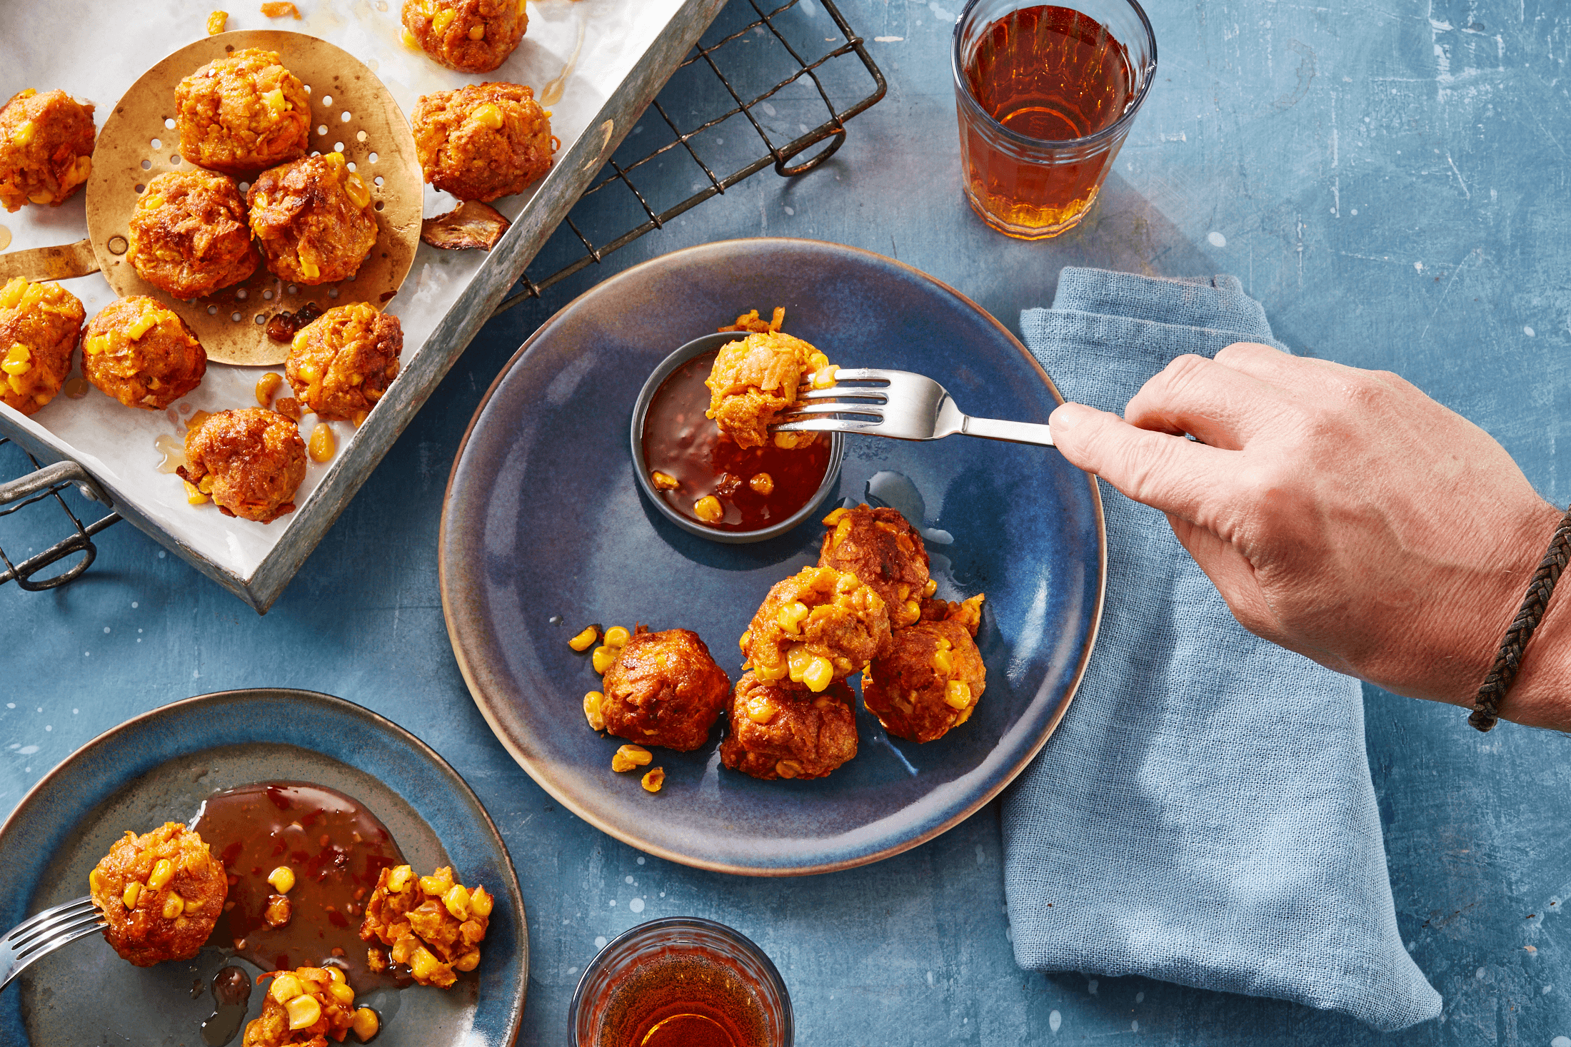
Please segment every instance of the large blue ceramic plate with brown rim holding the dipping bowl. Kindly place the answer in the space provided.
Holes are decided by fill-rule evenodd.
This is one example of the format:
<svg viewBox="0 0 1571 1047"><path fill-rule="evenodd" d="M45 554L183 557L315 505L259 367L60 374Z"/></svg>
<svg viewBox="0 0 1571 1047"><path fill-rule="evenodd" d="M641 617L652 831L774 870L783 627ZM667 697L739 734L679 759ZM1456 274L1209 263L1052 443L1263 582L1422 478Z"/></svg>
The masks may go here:
<svg viewBox="0 0 1571 1047"><path fill-rule="evenodd" d="M971 720L917 746L861 710L856 758L812 782L726 771L718 731L698 752L657 750L658 794L613 774L619 739L583 716L600 678L569 637L592 622L694 629L735 680L737 637L770 586L817 560L817 521L757 545L687 534L649 505L628 461L649 372L738 312L775 306L834 363L932 375L968 413L1046 422L1059 403L1002 325L900 262L809 240L676 251L577 298L492 385L448 482L441 603L492 730L580 818L699 868L823 873L944 832L1037 753L1090 656L1106 546L1095 483L1051 447L848 436L826 505L869 493L894 504L925 529L939 596L987 593L987 692Z"/></svg>

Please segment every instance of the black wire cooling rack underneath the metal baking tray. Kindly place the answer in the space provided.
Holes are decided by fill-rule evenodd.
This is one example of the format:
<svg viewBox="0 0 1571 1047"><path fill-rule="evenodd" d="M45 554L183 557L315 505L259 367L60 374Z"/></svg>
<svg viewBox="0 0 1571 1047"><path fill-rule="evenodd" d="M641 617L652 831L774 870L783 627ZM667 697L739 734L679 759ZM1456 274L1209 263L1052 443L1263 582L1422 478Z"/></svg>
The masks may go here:
<svg viewBox="0 0 1571 1047"><path fill-rule="evenodd" d="M817 168L845 141L845 122L877 104L886 89L862 38L833 0L786 0L775 6L731 0L537 261L548 265L577 257L540 279L526 270L496 312L539 298L553 284L765 168L773 166L781 177ZM31 471L20 465L24 458ZM69 531L19 564L0 546L0 586L16 581L39 592L80 578L97 556L93 535L118 523L119 515L110 512L83 524L64 494L75 491L104 505L108 498L74 461L39 469L33 455L0 438L5 474L22 476L0 483L0 518L53 501ZM60 573L38 579L74 556L79 559Z"/></svg>

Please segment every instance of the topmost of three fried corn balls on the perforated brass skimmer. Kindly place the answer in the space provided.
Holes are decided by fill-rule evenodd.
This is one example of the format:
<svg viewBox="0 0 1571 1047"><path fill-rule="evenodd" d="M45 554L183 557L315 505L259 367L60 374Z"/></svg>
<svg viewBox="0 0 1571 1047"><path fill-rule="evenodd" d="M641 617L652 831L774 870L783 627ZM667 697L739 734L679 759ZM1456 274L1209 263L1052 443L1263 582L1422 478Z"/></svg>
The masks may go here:
<svg viewBox="0 0 1571 1047"><path fill-rule="evenodd" d="M225 174L250 174L311 144L311 96L278 52L247 47L215 58L174 88L181 155Z"/></svg>

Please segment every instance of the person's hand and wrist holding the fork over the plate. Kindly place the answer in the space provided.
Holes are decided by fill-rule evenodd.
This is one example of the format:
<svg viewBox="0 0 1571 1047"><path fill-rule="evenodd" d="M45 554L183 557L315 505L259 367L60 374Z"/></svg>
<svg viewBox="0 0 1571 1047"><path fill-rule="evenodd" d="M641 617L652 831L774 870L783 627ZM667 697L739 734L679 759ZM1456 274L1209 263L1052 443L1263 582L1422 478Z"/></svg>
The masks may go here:
<svg viewBox="0 0 1571 1047"><path fill-rule="evenodd" d="M1560 520L1499 443L1398 375L1268 345L1180 356L1123 419L1064 403L1051 425L1064 457L1167 515L1251 633L1453 705L1472 705ZM1555 603L1505 719L1571 727Z"/></svg>

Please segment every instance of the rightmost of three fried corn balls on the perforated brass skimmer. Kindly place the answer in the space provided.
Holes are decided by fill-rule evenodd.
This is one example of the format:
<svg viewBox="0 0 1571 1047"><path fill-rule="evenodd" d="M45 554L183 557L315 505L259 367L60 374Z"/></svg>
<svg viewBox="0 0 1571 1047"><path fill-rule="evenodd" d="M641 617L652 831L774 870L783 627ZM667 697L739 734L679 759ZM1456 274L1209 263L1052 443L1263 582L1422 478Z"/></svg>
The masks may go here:
<svg viewBox="0 0 1571 1047"><path fill-rule="evenodd" d="M377 242L371 190L342 152L262 171L245 202L269 272L291 283L349 279Z"/></svg>

